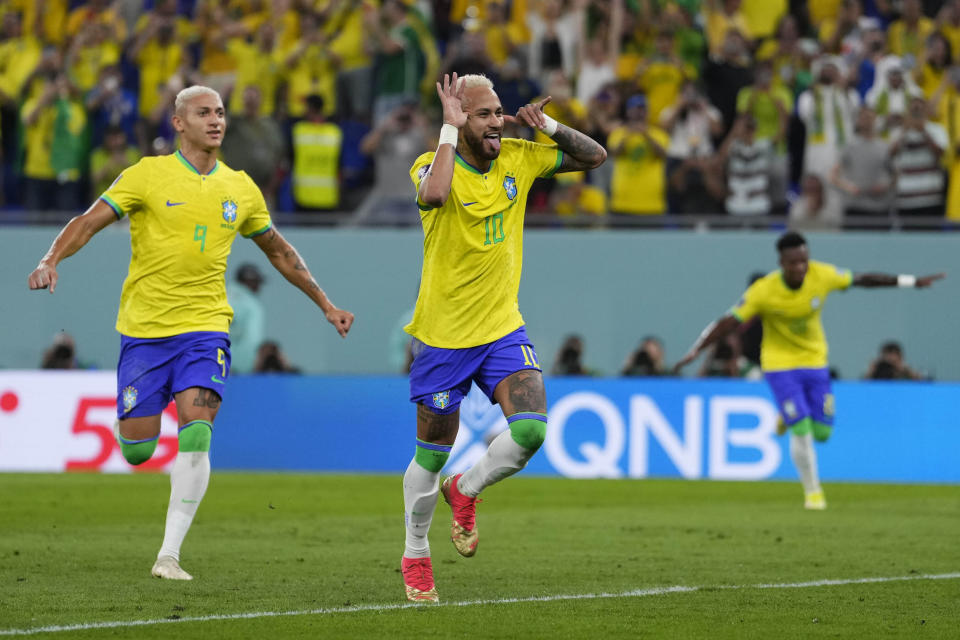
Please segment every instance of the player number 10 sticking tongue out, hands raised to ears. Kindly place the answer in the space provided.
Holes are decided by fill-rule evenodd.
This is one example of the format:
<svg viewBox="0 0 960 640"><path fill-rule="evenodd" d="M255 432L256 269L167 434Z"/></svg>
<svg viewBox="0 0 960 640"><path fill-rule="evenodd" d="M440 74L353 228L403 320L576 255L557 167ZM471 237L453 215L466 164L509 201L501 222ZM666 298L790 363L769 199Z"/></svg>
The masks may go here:
<svg viewBox="0 0 960 640"><path fill-rule="evenodd" d="M413 320L410 399L417 440L403 476L407 598L437 602L427 532L438 493L453 510L457 551L477 550L475 503L485 487L520 469L546 434L546 394L517 304L523 219L534 179L599 166L606 151L543 113L550 98L504 115L482 75L437 83L443 127L436 152L410 170L423 222L423 273ZM504 122L535 127L556 145L501 138ZM437 484L460 426L460 401L475 381L510 428L477 463Z"/></svg>

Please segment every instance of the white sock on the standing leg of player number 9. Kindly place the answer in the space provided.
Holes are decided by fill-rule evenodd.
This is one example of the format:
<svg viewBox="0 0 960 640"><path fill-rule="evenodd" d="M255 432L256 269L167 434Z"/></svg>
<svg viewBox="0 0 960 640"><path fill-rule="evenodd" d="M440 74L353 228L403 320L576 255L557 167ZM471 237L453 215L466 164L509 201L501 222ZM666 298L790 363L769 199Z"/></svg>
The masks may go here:
<svg viewBox="0 0 960 640"><path fill-rule="evenodd" d="M163 533L160 556L171 556L180 561L180 545L190 530L210 482L210 456L206 451L188 451L177 454L170 471L170 506L167 507L167 526Z"/></svg>

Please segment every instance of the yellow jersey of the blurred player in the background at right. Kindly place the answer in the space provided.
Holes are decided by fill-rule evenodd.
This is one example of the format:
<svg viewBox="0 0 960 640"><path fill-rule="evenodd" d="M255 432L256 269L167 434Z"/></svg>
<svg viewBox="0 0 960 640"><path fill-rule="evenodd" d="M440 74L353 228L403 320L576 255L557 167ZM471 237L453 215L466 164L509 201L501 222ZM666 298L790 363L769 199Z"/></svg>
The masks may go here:
<svg viewBox="0 0 960 640"><path fill-rule="evenodd" d="M820 312L831 291L844 290L851 283L850 271L811 260L799 289L788 287L777 270L750 285L730 312L741 322L760 316L760 366L764 371L819 369L827 366Z"/></svg>

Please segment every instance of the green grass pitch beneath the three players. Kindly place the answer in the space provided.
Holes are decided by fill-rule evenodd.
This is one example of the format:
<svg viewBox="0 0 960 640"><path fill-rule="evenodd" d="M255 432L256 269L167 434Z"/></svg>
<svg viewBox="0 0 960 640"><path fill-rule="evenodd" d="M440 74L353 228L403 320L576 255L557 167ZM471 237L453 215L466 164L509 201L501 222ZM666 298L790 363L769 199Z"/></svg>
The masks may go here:
<svg viewBox="0 0 960 640"><path fill-rule="evenodd" d="M473 558L441 498L443 604L409 607L399 475L215 472L188 583L149 574L168 489L0 475L0 636L960 637L956 486L827 484L829 509L807 512L792 482L521 474L484 493Z"/></svg>

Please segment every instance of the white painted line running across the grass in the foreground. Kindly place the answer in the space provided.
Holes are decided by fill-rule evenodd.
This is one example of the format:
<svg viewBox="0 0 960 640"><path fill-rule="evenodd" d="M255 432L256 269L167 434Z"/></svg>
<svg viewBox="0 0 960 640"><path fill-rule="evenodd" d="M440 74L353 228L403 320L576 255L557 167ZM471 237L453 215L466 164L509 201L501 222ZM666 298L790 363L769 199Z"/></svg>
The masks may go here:
<svg viewBox="0 0 960 640"><path fill-rule="evenodd" d="M525 602L559 602L564 600L598 600L603 598L642 598L646 596L660 596L671 593L694 593L705 590L743 590L743 589L809 589L811 587L835 587L850 584L876 584L883 582L906 582L910 580L956 580L960 572L916 574L910 576L889 576L879 578L840 578L827 580L812 580L810 582L784 582L764 584L724 584L716 586L675 585L672 587L652 587L650 589L635 589L617 593L571 593L552 596L526 596L517 598L497 598L491 600L461 600L459 602L441 602L439 604L361 604L349 607L329 607L323 609L303 609L300 611L257 611L250 613L225 613L212 616L195 616L176 619L156 620L118 620L114 622L88 622L81 624L51 625L48 627L34 627L32 629L0 629L0 636L29 636L37 633L59 633L64 631L87 631L90 629L118 629L121 627L145 627L156 624L180 624L183 622L211 622L218 620L249 620L252 618L276 618L280 616L323 616L339 613L363 613L374 611L396 611L416 607L476 607L491 604L519 604Z"/></svg>

